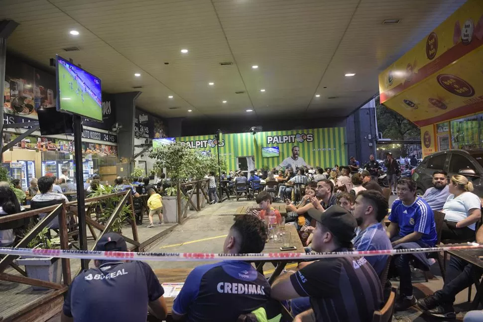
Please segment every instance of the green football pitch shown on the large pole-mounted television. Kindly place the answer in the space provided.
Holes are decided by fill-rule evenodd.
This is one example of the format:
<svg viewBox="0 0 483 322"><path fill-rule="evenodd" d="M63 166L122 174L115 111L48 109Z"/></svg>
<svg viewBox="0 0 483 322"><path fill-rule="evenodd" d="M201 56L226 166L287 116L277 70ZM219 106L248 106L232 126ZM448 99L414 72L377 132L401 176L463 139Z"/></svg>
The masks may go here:
<svg viewBox="0 0 483 322"><path fill-rule="evenodd" d="M102 106L59 64L60 109L102 121Z"/></svg>

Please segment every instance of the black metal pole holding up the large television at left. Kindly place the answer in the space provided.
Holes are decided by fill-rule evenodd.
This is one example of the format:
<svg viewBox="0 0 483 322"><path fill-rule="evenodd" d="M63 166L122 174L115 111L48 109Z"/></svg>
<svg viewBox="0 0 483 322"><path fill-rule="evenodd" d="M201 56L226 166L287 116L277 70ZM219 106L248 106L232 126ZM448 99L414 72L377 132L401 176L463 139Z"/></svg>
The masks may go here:
<svg viewBox="0 0 483 322"><path fill-rule="evenodd" d="M77 181L77 214L79 218L79 248L87 249L87 232L86 232L86 205L84 201L84 173L82 170L82 120L79 115L73 117L74 125L74 153L76 164L76 181ZM89 261L81 260L81 269L88 269Z"/></svg>

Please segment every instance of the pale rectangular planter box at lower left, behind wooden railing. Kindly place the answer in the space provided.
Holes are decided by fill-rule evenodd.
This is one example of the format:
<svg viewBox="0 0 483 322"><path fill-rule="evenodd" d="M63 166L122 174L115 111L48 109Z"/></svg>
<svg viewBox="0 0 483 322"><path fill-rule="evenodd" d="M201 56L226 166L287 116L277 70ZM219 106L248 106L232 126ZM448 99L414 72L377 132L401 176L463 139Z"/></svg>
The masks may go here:
<svg viewBox="0 0 483 322"><path fill-rule="evenodd" d="M38 280L61 283L62 262L58 257L19 258L17 265L25 265L27 276ZM32 286L34 290L49 290L49 288Z"/></svg>

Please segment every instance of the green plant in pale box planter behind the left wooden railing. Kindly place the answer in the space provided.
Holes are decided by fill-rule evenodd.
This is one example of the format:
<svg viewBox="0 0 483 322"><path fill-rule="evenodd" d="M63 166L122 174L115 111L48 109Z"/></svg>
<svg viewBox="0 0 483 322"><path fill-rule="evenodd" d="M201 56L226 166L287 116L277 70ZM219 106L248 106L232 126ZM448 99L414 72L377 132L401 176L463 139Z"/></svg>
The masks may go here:
<svg viewBox="0 0 483 322"><path fill-rule="evenodd" d="M60 249L60 237L49 239L45 227L28 243L27 248ZM69 243L69 249L72 243ZM17 265L24 265L27 277L53 283L62 281L62 262L59 257L23 256L16 260ZM32 286L34 290L48 290L41 286Z"/></svg>

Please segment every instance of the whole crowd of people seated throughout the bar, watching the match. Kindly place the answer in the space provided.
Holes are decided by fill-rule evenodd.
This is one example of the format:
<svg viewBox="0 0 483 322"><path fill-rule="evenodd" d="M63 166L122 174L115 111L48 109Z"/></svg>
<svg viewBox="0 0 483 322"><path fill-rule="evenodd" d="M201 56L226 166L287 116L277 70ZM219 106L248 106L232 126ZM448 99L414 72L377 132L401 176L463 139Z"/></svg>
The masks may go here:
<svg viewBox="0 0 483 322"><path fill-rule="evenodd" d="M392 161L389 161L391 167ZM221 180L215 173L210 173L207 176L208 192L214 203L219 201L217 184L221 181L227 182L232 192L240 183L254 189L265 187L253 195L258 209L235 218L223 251L227 254L261 252L267 240L266 217L273 215L281 220L280 213L272 207L275 199L285 202L285 220L296 226L307 252L427 248L434 247L439 239L451 243L483 242L483 228L478 228L482 202L472 192L473 185L465 176L448 178L446 172L436 171L433 187L418 196L416 183L409 178L396 180L398 173L394 168L389 180L397 199L389 205L377 183L375 163L371 156L362 170L359 162L351 158L348 166L253 170L248 178L242 171L232 171L223 174ZM277 187L269 187L268 182L276 182ZM150 196L150 225L153 225L155 215L162 222L162 197L158 191L150 187L149 180L137 179L131 183L134 186L142 183ZM131 183L118 177L115 189L131 189L135 197L139 196ZM37 188L32 201L63 199L61 194L54 192L52 178L39 178L31 182L31 186L32 191ZM97 191L101 187L100 178L92 180L91 190ZM0 187L0 192L0 215L18 212L18 195L13 188ZM435 212L444 214L441 236L436 231ZM0 230L0 246L12 243L10 230ZM98 247L110 251L126 249L122 237L116 234L110 234L109 239ZM381 284L386 269L389 279L399 279L395 311L405 311L417 305L433 317L454 318L456 294L471 286L474 276L482 276L483 271L451 256L444 287L418 300L413 295L411 266L428 270L433 262L426 253L404 252L393 255L389 261L387 255L303 261L294 271L281 274L271 286L262 274L244 261L202 265L186 278L174 301L172 318L175 321L237 321L240 315L256 316L261 310L268 319L279 321L278 301L281 301L298 322L371 321L374 311L381 309L390 293L391 282ZM93 278L113 273L116 279ZM160 280L162 282L162 277ZM81 295L86 290L94 294L89 301ZM111 312L103 309L115 306L132 292L136 292L136 310L127 312L122 308ZM84 271L70 285L63 318L65 321L134 321L144 319L149 311L163 319L167 314L163 293L152 270L142 262L96 261L96 268ZM100 300L104 298L108 298L109 303ZM471 313L472 316L478 314ZM127 317L131 320L125 320Z"/></svg>

